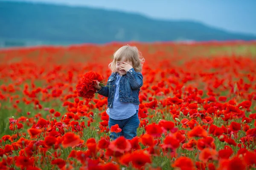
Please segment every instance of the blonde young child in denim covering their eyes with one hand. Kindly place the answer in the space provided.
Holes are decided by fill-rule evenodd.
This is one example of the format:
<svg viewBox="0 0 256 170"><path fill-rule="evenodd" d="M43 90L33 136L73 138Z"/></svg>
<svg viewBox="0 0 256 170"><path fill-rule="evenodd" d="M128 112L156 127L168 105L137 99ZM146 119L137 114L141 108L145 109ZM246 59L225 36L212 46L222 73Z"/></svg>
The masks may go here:
<svg viewBox="0 0 256 170"><path fill-rule="evenodd" d="M108 78L108 87L95 85L98 94L108 97L108 126L118 124L122 129L119 133L111 133L111 139L119 136L133 139L137 136L140 120L139 92L143 85L142 65L145 59L140 56L137 47L125 45L114 53L113 61L108 65L112 70Z"/></svg>

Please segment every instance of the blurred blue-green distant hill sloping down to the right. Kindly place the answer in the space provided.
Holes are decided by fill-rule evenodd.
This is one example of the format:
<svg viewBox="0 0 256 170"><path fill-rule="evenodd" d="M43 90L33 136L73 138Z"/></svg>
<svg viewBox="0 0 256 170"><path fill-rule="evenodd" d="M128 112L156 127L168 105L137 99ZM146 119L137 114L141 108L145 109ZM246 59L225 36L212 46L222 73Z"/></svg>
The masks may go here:
<svg viewBox="0 0 256 170"><path fill-rule="evenodd" d="M49 43L256 40L202 23L88 7L0 1L0 40Z"/></svg>

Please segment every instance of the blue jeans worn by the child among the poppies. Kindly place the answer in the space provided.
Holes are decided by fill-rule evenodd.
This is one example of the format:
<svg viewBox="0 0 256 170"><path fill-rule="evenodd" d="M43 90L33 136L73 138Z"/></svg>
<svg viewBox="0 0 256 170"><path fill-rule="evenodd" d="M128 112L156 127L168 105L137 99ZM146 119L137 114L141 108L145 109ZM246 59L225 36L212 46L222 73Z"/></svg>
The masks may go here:
<svg viewBox="0 0 256 170"><path fill-rule="evenodd" d="M123 120L115 120L109 117L108 120L108 127L111 129L111 126L118 124L119 127L122 129L121 132L115 133L111 132L110 138L115 140L119 136L124 136L125 139L133 139L137 136L137 128L140 125L140 120L138 117L138 111L128 119Z"/></svg>

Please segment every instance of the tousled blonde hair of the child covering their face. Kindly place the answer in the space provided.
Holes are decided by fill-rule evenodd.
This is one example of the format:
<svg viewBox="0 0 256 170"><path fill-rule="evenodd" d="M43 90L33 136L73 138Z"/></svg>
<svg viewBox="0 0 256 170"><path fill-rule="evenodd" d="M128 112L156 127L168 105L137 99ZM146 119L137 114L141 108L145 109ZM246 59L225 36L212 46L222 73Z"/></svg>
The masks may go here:
<svg viewBox="0 0 256 170"><path fill-rule="evenodd" d="M120 61L122 57L125 57L126 61L131 61L134 71L142 71L142 66L145 62L144 57L141 56L137 47L125 45L114 53L113 61L108 65L108 68L110 68L112 72L116 72L116 62Z"/></svg>

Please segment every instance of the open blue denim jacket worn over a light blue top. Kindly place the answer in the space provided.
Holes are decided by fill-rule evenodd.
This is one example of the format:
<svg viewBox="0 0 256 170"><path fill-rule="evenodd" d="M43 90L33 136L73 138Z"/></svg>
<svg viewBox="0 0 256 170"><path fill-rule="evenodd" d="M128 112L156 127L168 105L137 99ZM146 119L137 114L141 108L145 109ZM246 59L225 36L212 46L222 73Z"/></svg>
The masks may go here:
<svg viewBox="0 0 256 170"><path fill-rule="evenodd" d="M108 87L102 87L96 92L102 96L108 97L108 108L111 108L113 104L116 74L117 72L112 73L111 76L108 77ZM134 68L131 68L127 71L126 75L123 75L120 79L119 102L131 102L139 105L139 92L142 85L143 75L140 72L134 71Z"/></svg>

